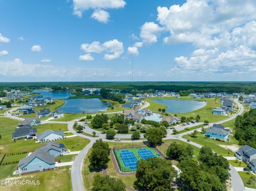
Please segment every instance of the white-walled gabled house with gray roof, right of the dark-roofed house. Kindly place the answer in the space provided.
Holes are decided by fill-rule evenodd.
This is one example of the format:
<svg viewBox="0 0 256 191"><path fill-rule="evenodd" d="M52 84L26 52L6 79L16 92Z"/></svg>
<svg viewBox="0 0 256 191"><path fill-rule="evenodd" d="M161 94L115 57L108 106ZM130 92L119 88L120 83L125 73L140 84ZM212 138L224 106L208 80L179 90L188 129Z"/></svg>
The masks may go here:
<svg viewBox="0 0 256 191"><path fill-rule="evenodd" d="M36 137L39 142L49 142L52 140L63 139L65 137L65 134L63 131L52 131L47 129L42 134L38 134Z"/></svg>

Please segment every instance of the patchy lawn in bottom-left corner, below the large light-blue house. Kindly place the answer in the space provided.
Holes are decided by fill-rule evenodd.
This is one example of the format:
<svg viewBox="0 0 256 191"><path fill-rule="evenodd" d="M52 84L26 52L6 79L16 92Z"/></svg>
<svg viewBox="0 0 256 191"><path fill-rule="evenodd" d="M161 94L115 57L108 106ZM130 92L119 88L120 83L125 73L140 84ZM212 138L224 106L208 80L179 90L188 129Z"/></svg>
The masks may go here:
<svg viewBox="0 0 256 191"><path fill-rule="evenodd" d="M44 191L44 190L60 190L69 191L71 190L71 176L70 167L62 167L55 170L36 172L30 175L22 175L16 177L17 180L39 180L39 185L6 185L0 186L0 190L5 191Z"/></svg>

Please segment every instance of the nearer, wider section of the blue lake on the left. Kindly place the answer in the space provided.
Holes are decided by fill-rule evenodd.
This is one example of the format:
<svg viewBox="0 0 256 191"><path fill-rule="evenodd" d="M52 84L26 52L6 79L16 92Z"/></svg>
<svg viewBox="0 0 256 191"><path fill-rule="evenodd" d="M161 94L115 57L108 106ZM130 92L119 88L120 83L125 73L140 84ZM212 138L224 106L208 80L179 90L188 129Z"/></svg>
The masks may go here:
<svg viewBox="0 0 256 191"><path fill-rule="evenodd" d="M60 107L68 113L96 113L99 110L106 110L111 103L102 102L99 98L90 99L66 99L66 103Z"/></svg>

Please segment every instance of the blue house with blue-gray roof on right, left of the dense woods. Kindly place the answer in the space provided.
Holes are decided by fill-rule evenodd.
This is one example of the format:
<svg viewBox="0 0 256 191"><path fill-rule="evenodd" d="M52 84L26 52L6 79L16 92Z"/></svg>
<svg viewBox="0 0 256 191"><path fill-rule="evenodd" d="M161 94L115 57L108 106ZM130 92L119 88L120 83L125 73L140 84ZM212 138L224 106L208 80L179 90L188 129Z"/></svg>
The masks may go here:
<svg viewBox="0 0 256 191"><path fill-rule="evenodd" d="M229 141L229 130L225 129L221 124L213 124L213 127L206 130L205 136L212 139Z"/></svg>

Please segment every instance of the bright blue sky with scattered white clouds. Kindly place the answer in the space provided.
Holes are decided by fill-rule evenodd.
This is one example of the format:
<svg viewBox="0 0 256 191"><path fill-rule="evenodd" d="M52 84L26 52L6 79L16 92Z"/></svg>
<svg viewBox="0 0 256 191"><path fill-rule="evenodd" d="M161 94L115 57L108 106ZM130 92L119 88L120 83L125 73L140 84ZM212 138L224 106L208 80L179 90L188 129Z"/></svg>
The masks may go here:
<svg viewBox="0 0 256 191"><path fill-rule="evenodd" d="M256 2L0 0L0 81L253 81Z"/></svg>

